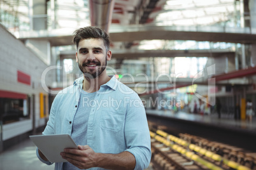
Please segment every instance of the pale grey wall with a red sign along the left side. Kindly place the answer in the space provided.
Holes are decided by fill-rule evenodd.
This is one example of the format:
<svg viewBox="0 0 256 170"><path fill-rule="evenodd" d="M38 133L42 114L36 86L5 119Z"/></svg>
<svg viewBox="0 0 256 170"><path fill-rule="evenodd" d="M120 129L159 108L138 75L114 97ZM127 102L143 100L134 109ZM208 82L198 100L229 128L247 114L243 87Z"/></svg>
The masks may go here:
<svg viewBox="0 0 256 170"><path fill-rule="evenodd" d="M36 128L45 125L45 119L39 117L39 93L48 95L41 86L41 74L48 65L27 49L23 42L16 39L0 25L0 90L25 95L35 95L35 112L30 119L3 125L3 140L7 140L32 130L32 115L35 115ZM18 81L18 71L28 75L30 83ZM49 77L52 77L49 74ZM48 79L47 81L51 81ZM48 103L46 103L48 105ZM46 106L47 107L47 106ZM48 112L48 108L46 110ZM46 115L48 113L46 112Z"/></svg>

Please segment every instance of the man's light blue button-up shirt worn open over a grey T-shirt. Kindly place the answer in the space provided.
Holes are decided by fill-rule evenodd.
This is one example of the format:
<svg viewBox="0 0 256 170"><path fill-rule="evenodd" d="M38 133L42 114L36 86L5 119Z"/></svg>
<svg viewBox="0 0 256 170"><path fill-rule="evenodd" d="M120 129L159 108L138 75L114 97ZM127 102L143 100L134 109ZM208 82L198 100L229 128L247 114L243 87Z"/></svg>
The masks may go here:
<svg viewBox="0 0 256 170"><path fill-rule="evenodd" d="M130 152L136 159L134 169L148 167L151 159L150 134L139 96L113 76L97 91L94 101L80 101L82 83L83 77L80 77L73 86L63 89L55 97L43 134L71 135L78 104L83 102L83 105L92 107L87 125L87 145L94 152L106 154ZM38 149L37 155L42 162L52 164L39 157ZM62 162L55 163L55 169L62 169L62 165Z"/></svg>

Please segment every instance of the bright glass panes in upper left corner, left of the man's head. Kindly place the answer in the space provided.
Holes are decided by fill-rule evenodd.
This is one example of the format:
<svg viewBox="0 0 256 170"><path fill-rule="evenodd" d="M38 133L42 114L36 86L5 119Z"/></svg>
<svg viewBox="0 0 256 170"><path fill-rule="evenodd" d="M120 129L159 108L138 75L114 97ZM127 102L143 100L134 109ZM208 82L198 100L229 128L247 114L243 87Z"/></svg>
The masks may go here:
<svg viewBox="0 0 256 170"><path fill-rule="evenodd" d="M1 0L0 23L10 32L31 30L33 18L45 18L48 30L84 27L90 24L87 1L55 0L55 3L47 1L46 14L41 15L33 15L30 2L29 0Z"/></svg>

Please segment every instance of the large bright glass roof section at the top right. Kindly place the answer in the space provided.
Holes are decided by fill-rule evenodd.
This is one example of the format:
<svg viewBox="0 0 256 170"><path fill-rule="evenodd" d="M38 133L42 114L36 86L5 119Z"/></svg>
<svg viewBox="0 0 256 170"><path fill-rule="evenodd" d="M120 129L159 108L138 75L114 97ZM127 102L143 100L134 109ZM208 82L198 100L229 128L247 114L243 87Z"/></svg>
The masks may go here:
<svg viewBox="0 0 256 170"><path fill-rule="evenodd" d="M168 0L156 17L157 25L234 26L234 0Z"/></svg>

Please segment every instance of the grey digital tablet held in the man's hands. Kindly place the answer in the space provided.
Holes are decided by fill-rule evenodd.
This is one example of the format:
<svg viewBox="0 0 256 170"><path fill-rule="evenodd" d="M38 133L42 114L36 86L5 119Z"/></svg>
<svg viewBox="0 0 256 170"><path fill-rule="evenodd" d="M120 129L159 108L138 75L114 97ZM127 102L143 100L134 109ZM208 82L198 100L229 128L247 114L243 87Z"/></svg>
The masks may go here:
<svg viewBox="0 0 256 170"><path fill-rule="evenodd" d="M33 135L29 138L50 162L68 162L62 159L60 152L64 148L78 148L69 134Z"/></svg>

